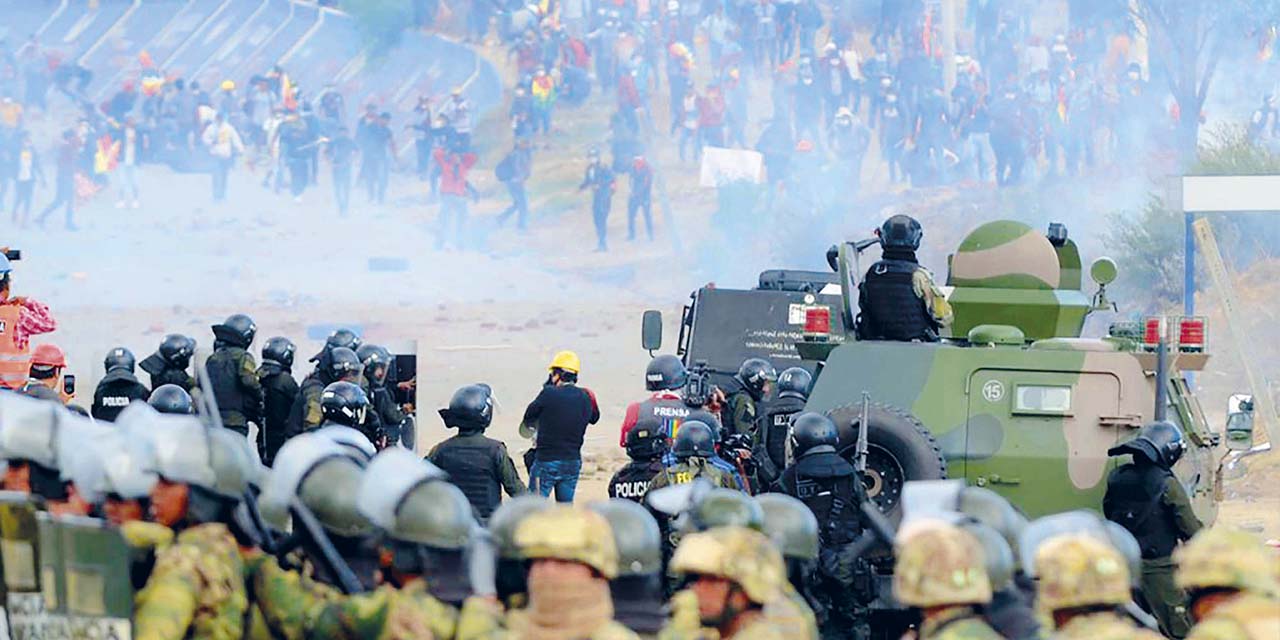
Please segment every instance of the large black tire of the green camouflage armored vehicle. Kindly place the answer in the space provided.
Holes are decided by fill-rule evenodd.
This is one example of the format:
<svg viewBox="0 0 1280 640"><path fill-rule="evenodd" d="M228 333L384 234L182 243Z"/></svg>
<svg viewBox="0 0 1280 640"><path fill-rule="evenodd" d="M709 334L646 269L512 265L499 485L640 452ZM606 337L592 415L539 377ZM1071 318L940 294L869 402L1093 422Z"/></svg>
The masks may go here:
<svg viewBox="0 0 1280 640"><path fill-rule="evenodd" d="M840 454L855 463L861 404L827 412L840 431ZM902 485L947 477L947 461L933 434L915 416L873 402L867 412L867 494L896 525L902 520Z"/></svg>

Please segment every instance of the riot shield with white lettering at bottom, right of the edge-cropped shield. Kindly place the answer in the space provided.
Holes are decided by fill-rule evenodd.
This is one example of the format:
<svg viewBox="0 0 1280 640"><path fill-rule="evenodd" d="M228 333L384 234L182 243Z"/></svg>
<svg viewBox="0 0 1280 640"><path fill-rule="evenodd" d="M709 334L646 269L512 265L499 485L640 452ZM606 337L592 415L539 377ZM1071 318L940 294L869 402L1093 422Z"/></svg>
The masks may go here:
<svg viewBox="0 0 1280 640"><path fill-rule="evenodd" d="M119 529L106 521L81 516L56 516L47 521L46 548L41 553L46 585L47 632L58 640L129 640L133 636L133 584L129 580L129 547Z"/></svg>

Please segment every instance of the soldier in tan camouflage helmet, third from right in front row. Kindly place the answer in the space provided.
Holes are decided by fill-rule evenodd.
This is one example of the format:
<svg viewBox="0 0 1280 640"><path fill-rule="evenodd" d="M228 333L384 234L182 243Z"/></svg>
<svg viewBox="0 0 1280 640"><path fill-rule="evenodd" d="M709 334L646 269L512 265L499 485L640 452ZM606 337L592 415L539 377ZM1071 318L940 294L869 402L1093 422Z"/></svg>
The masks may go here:
<svg viewBox="0 0 1280 640"><path fill-rule="evenodd" d="M897 536L893 595L922 616L920 640L998 640L978 607L991 602L977 538L941 520L919 520Z"/></svg>

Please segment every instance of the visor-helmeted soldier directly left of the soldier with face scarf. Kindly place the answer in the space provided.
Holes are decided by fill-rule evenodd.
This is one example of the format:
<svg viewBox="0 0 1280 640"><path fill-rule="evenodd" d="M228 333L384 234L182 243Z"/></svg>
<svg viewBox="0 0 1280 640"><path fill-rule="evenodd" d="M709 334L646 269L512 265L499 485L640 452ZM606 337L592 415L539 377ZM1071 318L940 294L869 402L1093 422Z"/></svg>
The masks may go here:
<svg viewBox="0 0 1280 640"><path fill-rule="evenodd" d="M462 492L444 472L406 449L384 451L361 477L357 504L381 531L384 581L329 600L308 637L451 639L470 594L462 552L476 526Z"/></svg>

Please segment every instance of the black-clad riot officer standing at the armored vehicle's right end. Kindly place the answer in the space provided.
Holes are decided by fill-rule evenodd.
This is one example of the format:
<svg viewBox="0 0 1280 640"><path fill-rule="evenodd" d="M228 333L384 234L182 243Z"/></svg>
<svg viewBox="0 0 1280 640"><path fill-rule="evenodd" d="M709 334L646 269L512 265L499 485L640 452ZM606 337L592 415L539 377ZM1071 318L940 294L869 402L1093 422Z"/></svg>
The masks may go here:
<svg viewBox="0 0 1280 640"><path fill-rule="evenodd" d="M1142 593L1161 631L1185 637L1190 628L1187 594L1174 584L1171 556L1179 543L1189 540L1203 525L1192 509L1190 499L1172 467L1187 443L1172 422L1152 422L1138 436L1107 451L1110 456L1132 454L1107 476L1102 512L1138 539L1142 547Z"/></svg>

